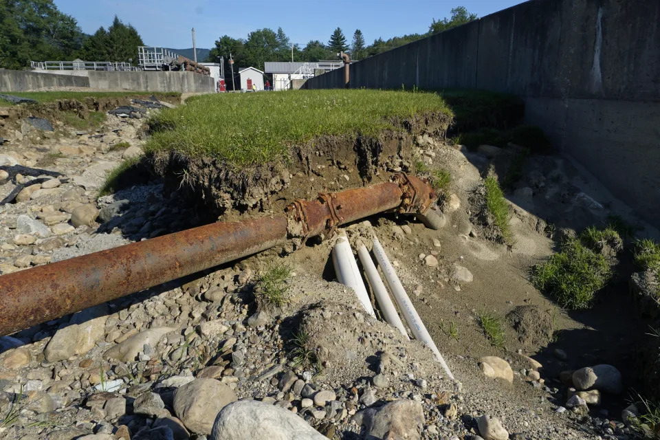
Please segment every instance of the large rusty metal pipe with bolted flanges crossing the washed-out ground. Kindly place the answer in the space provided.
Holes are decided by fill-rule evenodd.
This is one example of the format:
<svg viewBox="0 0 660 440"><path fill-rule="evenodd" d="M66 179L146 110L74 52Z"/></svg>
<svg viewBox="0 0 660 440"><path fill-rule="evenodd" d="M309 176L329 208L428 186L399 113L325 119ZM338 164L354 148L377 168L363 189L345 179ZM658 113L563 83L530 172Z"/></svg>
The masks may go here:
<svg viewBox="0 0 660 440"><path fill-rule="evenodd" d="M433 198L426 182L397 175L395 182L295 201L285 214L212 223L3 275L0 336L378 212L424 212Z"/></svg>

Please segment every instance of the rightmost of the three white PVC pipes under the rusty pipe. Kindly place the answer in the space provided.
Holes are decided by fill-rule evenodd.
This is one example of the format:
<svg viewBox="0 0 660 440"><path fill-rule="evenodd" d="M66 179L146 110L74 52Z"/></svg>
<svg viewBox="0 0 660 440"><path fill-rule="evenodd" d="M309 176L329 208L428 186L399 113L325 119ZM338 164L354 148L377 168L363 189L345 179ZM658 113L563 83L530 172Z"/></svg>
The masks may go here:
<svg viewBox="0 0 660 440"><path fill-rule="evenodd" d="M435 346L435 342L433 342L430 334L428 333L428 330L426 330L426 327L424 327L424 323L421 322L421 318L419 318L417 310L415 310L415 307L413 307L410 298L408 298L406 289L404 289L404 286L401 285L401 281L399 281L399 277L397 276L394 267L391 265L389 259L387 258L387 255L385 254L385 251L383 250L383 247L378 239L373 239L373 254L375 255L376 260L380 265L380 269L383 271L385 280L387 281L387 284L390 286L390 290L394 295L394 299L399 305L399 310L401 310L401 313L404 314L406 322L408 322L410 331L412 331L412 334L415 336L415 338L428 345L428 348L430 348L435 355L435 360L440 362L442 368L445 369L445 372L450 377L450 379L454 380L454 375L452 375L447 362L445 362L444 358L440 354L438 347Z"/></svg>

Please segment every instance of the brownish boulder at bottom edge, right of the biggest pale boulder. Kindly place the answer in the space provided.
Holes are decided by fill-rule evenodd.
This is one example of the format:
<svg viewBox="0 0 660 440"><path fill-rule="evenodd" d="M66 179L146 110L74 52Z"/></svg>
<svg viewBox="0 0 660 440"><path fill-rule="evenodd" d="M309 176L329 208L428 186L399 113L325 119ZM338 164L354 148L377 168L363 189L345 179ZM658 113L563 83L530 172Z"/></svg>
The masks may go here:
<svg viewBox="0 0 660 440"><path fill-rule="evenodd" d="M424 411L417 401L395 400L358 412L353 420L364 425L367 439L419 440Z"/></svg>

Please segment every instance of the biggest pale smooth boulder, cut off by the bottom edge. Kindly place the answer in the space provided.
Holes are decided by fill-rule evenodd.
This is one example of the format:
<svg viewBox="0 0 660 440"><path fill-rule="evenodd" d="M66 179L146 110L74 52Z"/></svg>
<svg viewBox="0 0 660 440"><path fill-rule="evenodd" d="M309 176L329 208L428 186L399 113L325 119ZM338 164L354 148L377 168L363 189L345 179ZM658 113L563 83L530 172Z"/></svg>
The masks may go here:
<svg viewBox="0 0 660 440"><path fill-rule="evenodd" d="M213 423L209 440L324 440L326 437L293 412L241 400L225 406Z"/></svg>

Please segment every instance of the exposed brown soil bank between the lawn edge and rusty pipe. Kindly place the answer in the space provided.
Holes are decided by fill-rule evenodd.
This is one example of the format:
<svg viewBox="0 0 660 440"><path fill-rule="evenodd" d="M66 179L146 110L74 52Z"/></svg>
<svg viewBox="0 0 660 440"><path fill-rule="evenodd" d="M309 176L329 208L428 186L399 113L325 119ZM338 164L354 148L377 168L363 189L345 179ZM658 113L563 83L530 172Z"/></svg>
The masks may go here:
<svg viewBox="0 0 660 440"><path fill-rule="evenodd" d="M373 184L392 173L412 169L417 135L444 138L450 118L444 114L397 121L400 131L378 137L324 136L292 146L287 162L237 168L223 159L155 153L153 169L173 190L190 191L223 219L244 212L281 210L287 201L318 192Z"/></svg>

